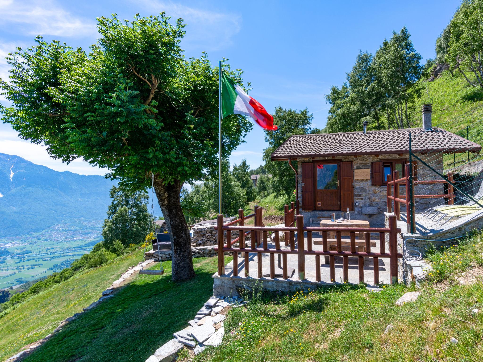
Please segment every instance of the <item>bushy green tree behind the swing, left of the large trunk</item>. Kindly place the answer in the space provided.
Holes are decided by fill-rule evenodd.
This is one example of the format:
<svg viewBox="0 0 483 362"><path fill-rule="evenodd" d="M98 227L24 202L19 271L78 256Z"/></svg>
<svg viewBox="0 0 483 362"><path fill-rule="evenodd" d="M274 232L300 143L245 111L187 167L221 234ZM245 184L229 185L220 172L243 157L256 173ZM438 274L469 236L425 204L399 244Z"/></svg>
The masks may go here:
<svg viewBox="0 0 483 362"><path fill-rule="evenodd" d="M118 252L123 246L143 242L148 225L154 223L147 207L149 195L119 185L111 188L110 196L112 202L102 227L104 247Z"/></svg>

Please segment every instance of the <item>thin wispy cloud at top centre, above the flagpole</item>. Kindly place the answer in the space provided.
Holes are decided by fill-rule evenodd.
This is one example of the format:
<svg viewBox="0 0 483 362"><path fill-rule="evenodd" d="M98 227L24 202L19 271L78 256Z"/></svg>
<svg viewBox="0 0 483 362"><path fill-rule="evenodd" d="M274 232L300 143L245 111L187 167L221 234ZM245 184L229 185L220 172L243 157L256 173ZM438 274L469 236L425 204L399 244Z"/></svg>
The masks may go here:
<svg viewBox="0 0 483 362"><path fill-rule="evenodd" d="M225 14L191 8L162 0L133 0L147 7L150 13L166 12L173 19L183 18L186 35L182 46L190 49L218 50L232 44L232 37L241 29L241 15Z"/></svg>

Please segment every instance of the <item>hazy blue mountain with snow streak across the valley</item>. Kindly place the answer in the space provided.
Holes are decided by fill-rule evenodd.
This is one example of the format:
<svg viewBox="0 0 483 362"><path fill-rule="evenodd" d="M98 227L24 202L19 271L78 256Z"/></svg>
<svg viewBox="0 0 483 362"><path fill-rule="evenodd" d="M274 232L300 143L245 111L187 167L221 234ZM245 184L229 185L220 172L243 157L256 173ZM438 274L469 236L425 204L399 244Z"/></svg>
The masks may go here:
<svg viewBox="0 0 483 362"><path fill-rule="evenodd" d="M58 172L0 153L0 236L44 230L72 219L104 220L114 181Z"/></svg>

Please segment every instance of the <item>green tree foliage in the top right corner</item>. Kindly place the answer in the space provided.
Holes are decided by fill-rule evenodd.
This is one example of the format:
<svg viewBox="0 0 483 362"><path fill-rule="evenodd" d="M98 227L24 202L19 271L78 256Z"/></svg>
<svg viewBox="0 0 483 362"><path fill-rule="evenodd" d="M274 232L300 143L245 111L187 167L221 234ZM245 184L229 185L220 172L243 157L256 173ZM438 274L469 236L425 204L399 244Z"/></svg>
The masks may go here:
<svg viewBox="0 0 483 362"><path fill-rule="evenodd" d="M464 0L441 37L440 48L451 69L468 84L483 87L483 1ZM445 34L446 32L446 34ZM449 33L449 34L448 34ZM441 51L442 53L443 51Z"/></svg>

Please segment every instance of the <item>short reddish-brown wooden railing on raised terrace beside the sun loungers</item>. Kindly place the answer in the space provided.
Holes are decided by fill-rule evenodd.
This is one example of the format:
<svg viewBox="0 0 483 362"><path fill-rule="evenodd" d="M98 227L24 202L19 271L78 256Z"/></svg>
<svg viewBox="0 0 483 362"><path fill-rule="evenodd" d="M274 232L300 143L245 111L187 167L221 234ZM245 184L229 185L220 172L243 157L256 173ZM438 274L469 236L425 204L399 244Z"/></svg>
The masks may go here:
<svg viewBox="0 0 483 362"><path fill-rule="evenodd" d="M406 206L406 222L409 224L411 223L411 218L409 217L409 213L411 212L414 220L414 205L410 205L411 197L410 190L412 189L412 193L414 194L414 188L410 187L410 165L405 165L405 177L399 178L399 171L393 171L393 175L387 175L387 212L393 212L392 203L394 201L394 214L396 215L397 220L401 220L401 210L400 204L404 204ZM413 195L413 199L415 198L447 198L448 204L453 205L455 203L455 190L453 187L453 172L448 172L448 181L446 180L426 180L426 181L412 181L413 184L448 184L448 193L447 194L439 194L439 195ZM406 189L406 195L399 195L399 185L404 184ZM393 193L394 191L394 193Z"/></svg>

